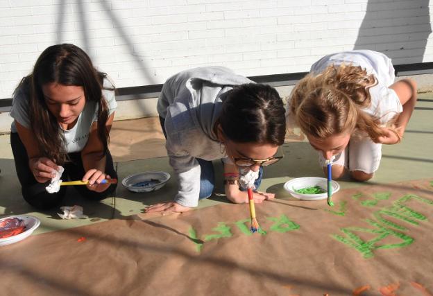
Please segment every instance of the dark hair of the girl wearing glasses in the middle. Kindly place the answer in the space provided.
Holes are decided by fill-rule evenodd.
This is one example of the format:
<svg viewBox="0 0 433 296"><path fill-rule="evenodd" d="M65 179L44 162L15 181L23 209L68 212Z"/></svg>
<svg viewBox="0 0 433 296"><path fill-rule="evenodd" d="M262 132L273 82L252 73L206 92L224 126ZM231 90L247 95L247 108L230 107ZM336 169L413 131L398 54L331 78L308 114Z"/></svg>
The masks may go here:
<svg viewBox="0 0 433 296"><path fill-rule="evenodd" d="M280 146L285 140L285 107L269 85L250 83L233 88L223 101L219 123L234 142Z"/></svg>

